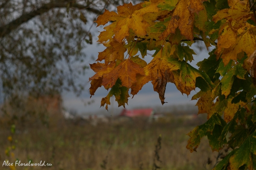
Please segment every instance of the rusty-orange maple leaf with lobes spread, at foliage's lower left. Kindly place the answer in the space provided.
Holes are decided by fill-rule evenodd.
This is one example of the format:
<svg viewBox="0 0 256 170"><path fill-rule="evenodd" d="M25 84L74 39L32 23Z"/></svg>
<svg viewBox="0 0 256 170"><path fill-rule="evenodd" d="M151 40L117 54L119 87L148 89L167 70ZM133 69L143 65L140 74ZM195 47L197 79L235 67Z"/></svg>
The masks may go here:
<svg viewBox="0 0 256 170"><path fill-rule="evenodd" d="M137 82L137 74L145 75L140 65L134 63L130 59L126 59L116 66L111 72L104 75L102 85L105 86L106 89L109 89L116 84L116 81L119 78L122 82L122 86L129 89L133 83Z"/></svg>

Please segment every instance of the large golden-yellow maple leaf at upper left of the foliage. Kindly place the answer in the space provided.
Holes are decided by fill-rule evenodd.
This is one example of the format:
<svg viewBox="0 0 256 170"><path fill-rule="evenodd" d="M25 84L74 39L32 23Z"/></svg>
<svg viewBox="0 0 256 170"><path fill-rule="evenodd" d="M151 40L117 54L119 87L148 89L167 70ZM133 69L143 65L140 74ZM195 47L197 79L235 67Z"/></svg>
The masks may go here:
<svg viewBox="0 0 256 170"><path fill-rule="evenodd" d="M105 10L105 12L97 18L97 26L105 25L108 21L116 21L116 26L112 25L112 23L111 26L106 28L106 32L100 35L99 41L106 41L114 35L114 39L121 43L125 37L129 36L129 29L133 29L137 35L146 35L146 28L149 24L143 18L143 15L146 13L158 12L157 4L158 3L150 3L150 5L145 8L141 7L142 3L135 6L131 3L125 4L117 7L118 14L116 12ZM111 32L112 29L113 32ZM104 38L103 35L106 35L107 33L110 33L110 35L107 35L107 37Z"/></svg>

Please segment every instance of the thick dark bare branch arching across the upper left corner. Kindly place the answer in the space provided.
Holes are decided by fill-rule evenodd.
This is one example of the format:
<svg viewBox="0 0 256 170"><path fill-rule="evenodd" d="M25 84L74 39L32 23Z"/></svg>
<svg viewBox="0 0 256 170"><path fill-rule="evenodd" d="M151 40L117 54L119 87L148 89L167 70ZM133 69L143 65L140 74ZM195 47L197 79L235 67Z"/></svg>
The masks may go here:
<svg viewBox="0 0 256 170"><path fill-rule="evenodd" d="M32 12L29 12L27 14L22 14L16 20L13 20L12 22L0 27L0 38L4 37L5 35L8 35L10 32L12 32L12 30L17 29L17 27L19 27L21 24L27 22L28 20L32 19L33 17L43 14L45 12L48 12L50 9L53 9L53 8L65 8L65 7L67 7L68 3L69 2L47 3ZM97 9L90 8L89 6L83 6L78 3L72 3L72 5L70 7L77 8L77 9L86 9L87 11L93 12L95 14L102 13L101 11L99 11Z"/></svg>

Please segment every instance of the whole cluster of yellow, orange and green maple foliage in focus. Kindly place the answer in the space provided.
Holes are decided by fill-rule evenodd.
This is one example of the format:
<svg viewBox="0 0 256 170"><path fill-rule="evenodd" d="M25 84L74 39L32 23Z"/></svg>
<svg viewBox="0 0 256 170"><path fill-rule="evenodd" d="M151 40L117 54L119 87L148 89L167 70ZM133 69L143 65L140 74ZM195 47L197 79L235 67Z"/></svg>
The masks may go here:
<svg viewBox="0 0 256 170"><path fill-rule="evenodd" d="M203 136L212 151L228 144L233 150L216 167L256 169L256 26L254 3L248 0L150 0L137 5L125 4L116 12L105 10L96 23L105 26L99 52L91 69L90 94L104 86L111 89L101 106L116 97L119 106L128 103L128 90L136 95L149 81L159 93L162 104L166 84L174 83L189 95L201 89L192 100L198 100L198 113L207 113L208 121L188 135L187 148L193 152ZM215 46L209 58L192 62L195 40L206 47ZM155 50L146 63L147 51ZM125 56L125 52L127 55ZM137 53L140 52L140 55Z"/></svg>

